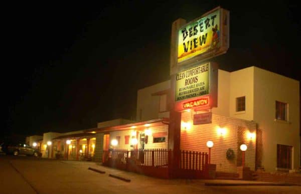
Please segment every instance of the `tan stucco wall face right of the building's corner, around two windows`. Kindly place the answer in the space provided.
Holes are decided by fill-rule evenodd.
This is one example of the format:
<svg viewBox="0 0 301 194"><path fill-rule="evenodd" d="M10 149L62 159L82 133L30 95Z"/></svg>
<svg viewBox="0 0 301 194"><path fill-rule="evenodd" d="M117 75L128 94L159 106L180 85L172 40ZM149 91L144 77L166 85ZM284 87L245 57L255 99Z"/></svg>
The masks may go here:
<svg viewBox="0 0 301 194"><path fill-rule="evenodd" d="M275 101L288 104L288 122L275 120ZM293 146L292 168L299 167L299 82L254 68L254 120L262 130L262 165L275 171L277 144Z"/></svg>

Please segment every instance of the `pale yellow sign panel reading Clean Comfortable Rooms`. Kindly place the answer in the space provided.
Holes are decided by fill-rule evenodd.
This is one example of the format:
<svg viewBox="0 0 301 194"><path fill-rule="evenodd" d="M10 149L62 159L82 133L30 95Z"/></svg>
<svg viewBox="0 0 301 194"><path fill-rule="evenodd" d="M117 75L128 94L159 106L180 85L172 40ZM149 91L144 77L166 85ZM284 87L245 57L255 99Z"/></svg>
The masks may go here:
<svg viewBox="0 0 301 194"><path fill-rule="evenodd" d="M209 94L210 63L177 74L175 101Z"/></svg>

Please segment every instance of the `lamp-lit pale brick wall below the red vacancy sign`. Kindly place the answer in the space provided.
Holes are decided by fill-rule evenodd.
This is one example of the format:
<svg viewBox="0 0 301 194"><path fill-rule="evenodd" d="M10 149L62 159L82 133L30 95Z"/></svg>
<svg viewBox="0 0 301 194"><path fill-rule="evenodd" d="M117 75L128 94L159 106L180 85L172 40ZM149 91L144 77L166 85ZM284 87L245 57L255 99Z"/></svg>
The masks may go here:
<svg viewBox="0 0 301 194"><path fill-rule="evenodd" d="M245 152L245 166L255 169L255 139L247 138L248 132L256 132L255 122L213 114L212 123L193 125L193 114L195 112L182 113L182 123L190 123L191 126L186 129L184 125L181 126L182 150L208 152L206 142L211 140L214 143L211 149L211 163L216 164L216 170L237 172L237 153L240 146L238 144L243 142L248 146ZM218 128L224 128L226 133L220 135ZM232 160L226 158L228 148L234 150L235 156Z"/></svg>

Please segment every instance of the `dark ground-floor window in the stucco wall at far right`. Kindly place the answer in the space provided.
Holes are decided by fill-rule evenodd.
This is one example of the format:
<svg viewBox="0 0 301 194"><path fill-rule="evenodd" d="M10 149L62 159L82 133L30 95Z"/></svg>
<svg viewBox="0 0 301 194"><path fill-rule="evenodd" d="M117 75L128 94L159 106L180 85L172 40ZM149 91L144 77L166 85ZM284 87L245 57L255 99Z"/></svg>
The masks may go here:
<svg viewBox="0 0 301 194"><path fill-rule="evenodd" d="M291 147L277 144L277 167L291 169Z"/></svg>

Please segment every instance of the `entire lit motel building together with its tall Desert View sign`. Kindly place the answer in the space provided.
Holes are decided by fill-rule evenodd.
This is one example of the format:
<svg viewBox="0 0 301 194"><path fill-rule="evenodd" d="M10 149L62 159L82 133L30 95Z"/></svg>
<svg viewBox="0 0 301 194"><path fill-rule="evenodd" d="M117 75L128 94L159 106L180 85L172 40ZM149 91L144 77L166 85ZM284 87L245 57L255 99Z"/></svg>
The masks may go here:
<svg viewBox="0 0 301 194"><path fill-rule="evenodd" d="M170 80L138 90L136 120L44 133L43 157L92 160L162 178L250 179L255 170L297 171L299 82L255 66L227 72L209 61L228 48L228 11L218 7L187 24L175 21Z"/></svg>

